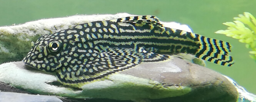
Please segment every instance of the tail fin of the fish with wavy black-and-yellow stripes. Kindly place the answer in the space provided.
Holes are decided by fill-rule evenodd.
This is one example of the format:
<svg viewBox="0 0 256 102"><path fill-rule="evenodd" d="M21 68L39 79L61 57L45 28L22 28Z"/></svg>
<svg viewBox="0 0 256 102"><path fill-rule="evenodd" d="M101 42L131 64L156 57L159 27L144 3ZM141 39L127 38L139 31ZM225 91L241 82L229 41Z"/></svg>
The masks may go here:
<svg viewBox="0 0 256 102"><path fill-rule="evenodd" d="M196 57L222 66L232 66L234 64L231 52L231 45L218 39L207 38L198 35L199 49Z"/></svg>

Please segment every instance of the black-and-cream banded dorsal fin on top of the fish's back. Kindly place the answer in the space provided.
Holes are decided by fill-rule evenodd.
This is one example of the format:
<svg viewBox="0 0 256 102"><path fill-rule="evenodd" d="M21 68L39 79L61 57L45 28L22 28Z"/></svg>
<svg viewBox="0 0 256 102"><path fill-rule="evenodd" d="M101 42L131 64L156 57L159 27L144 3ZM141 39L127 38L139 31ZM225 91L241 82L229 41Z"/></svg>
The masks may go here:
<svg viewBox="0 0 256 102"><path fill-rule="evenodd" d="M144 15L144 16L127 16L124 18L117 18L114 20L110 20L114 22L126 22L126 23L137 23L137 24L151 24L154 26L160 26L163 25L159 22L159 18L152 15Z"/></svg>

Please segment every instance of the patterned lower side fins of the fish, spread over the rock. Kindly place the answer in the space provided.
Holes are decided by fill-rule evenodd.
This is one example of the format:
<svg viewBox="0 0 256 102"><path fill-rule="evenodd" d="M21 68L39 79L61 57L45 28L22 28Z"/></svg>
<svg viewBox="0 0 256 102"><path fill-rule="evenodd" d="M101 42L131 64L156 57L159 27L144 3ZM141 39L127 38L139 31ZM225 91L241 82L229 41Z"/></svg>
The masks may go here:
<svg viewBox="0 0 256 102"><path fill-rule="evenodd" d="M85 65L57 71L57 76L63 84L81 86L86 82L96 81L113 74L132 68L142 62L163 61L167 55L148 52L144 48L138 51L131 48L107 48L97 54L94 60L87 61Z"/></svg>

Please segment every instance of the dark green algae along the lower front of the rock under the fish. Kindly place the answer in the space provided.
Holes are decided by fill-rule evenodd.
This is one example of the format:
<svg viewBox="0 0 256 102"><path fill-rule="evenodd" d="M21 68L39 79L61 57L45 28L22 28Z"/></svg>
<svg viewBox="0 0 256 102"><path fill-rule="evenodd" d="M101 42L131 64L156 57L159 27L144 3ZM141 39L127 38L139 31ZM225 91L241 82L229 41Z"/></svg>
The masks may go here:
<svg viewBox="0 0 256 102"><path fill-rule="evenodd" d="M116 100L132 99L161 99L166 97L175 97L187 94L191 88L188 87L162 87L138 85L126 82L117 86L111 86L104 89L84 89L84 96L94 98L108 98ZM100 93L100 94L99 94Z"/></svg>

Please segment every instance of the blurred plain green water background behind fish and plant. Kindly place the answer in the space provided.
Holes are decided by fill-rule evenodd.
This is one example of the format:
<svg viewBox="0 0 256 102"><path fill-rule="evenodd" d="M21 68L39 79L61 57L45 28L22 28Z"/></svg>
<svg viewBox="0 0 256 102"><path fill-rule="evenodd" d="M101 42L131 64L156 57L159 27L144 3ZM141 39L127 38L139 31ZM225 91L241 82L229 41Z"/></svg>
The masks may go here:
<svg viewBox="0 0 256 102"><path fill-rule="evenodd" d="M233 78L256 94L256 62L249 49L237 39L215 34L225 30L222 23L233 21L243 12L256 16L256 0L0 0L0 26L44 18L71 15L130 13L156 15L161 21L175 21L191 27L194 33L228 41L233 45L232 67L207 63L207 67Z"/></svg>

